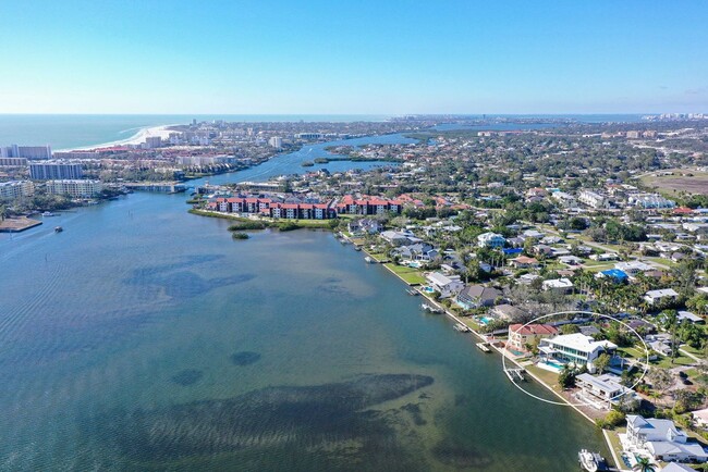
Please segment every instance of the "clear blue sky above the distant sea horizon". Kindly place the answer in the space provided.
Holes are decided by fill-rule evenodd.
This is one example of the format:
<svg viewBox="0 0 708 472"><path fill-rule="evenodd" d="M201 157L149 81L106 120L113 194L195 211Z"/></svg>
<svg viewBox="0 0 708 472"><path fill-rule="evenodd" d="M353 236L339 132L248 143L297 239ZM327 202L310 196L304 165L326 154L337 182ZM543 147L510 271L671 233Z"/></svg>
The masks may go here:
<svg viewBox="0 0 708 472"><path fill-rule="evenodd" d="M0 113L708 112L708 2L1 0Z"/></svg>

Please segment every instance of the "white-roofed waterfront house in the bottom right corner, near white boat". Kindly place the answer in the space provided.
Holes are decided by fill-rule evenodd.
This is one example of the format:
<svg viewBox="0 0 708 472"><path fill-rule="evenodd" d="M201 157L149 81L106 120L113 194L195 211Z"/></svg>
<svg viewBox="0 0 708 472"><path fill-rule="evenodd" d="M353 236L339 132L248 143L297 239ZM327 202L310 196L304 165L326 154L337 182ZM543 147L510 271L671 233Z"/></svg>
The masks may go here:
<svg viewBox="0 0 708 472"><path fill-rule="evenodd" d="M627 414L626 443L647 450L655 460L706 462L708 454L671 420Z"/></svg>

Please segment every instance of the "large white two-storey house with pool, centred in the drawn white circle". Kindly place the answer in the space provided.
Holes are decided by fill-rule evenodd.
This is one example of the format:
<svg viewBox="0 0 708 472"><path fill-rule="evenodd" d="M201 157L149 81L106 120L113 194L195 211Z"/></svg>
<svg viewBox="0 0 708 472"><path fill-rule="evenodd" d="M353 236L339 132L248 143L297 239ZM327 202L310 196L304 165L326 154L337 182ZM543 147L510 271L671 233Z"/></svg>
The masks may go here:
<svg viewBox="0 0 708 472"><path fill-rule="evenodd" d="M612 355L617 345L609 340L595 340L581 333L564 334L550 339L541 339L538 349L541 362L539 367L557 364L585 365L590 373L595 373L595 360L601 353ZM554 369L558 370L558 369Z"/></svg>

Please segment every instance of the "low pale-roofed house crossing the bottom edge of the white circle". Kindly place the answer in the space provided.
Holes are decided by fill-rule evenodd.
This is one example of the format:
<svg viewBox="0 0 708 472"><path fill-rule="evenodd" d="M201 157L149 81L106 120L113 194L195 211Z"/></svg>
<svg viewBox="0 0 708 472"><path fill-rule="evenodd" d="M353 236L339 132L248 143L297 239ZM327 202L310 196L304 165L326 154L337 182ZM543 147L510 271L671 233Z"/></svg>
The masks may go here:
<svg viewBox="0 0 708 472"><path fill-rule="evenodd" d="M590 375L583 373L575 376L575 385L579 392L575 397L584 403L591 405L598 410L609 410L612 406L621 405L630 410L639 405L637 394L620 383L621 377L613 374Z"/></svg>

